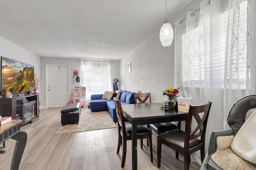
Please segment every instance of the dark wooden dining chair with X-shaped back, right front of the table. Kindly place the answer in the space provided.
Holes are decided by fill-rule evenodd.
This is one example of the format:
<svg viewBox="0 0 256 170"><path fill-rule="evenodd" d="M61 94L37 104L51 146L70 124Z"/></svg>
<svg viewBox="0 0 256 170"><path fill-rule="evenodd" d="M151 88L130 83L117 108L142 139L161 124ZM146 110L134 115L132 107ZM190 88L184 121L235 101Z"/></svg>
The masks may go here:
<svg viewBox="0 0 256 170"><path fill-rule="evenodd" d="M176 159L179 153L184 156L184 170L189 170L190 154L200 150L201 161L205 157L205 133L210 107L212 103L201 106L190 105L186 120L185 131L172 130L157 135L157 167L161 164L162 144L176 151ZM192 129L192 118L196 121L196 126ZM198 139L200 137L200 139Z"/></svg>

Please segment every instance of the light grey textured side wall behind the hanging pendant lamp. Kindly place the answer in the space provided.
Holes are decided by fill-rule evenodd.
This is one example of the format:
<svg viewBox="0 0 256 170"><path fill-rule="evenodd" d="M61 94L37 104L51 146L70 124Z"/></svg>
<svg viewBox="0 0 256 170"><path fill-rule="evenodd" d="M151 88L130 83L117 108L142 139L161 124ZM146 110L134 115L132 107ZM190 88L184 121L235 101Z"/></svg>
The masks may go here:
<svg viewBox="0 0 256 170"><path fill-rule="evenodd" d="M178 14L167 20L174 26L176 20L186 17L186 12L197 10L201 0L193 0ZM163 9L164 10L164 9ZM164 18L163 18L164 21ZM154 26L154 25L152 25ZM170 47L163 47L159 39L159 25L152 35L142 41L120 61L121 89L137 92L151 92L152 102L164 100L162 91L174 87L174 41ZM128 73L128 63L132 72Z"/></svg>

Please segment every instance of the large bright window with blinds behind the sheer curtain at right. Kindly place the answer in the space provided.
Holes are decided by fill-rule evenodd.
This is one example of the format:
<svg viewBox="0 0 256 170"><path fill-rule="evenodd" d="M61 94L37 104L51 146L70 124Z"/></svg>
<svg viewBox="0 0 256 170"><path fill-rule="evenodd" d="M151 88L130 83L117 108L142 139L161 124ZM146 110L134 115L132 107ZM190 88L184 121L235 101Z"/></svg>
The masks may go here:
<svg viewBox="0 0 256 170"><path fill-rule="evenodd" d="M221 11L222 14L211 18L209 23L211 31L218 33L214 35L218 39L204 32L203 15L182 36L184 86L205 87L211 75L212 80L217 80L213 83L216 88L246 88L247 1L232 10Z"/></svg>

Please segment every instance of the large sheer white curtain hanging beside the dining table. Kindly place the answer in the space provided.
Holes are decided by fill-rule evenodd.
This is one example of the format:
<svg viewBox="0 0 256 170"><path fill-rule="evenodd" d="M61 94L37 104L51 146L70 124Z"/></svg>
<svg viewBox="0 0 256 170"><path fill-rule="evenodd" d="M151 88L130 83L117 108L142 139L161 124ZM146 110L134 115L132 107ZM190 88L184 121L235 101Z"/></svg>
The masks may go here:
<svg viewBox="0 0 256 170"><path fill-rule="evenodd" d="M229 129L235 102L255 94L254 0L203 0L175 23L175 86L192 104L212 102L206 141L212 130Z"/></svg>

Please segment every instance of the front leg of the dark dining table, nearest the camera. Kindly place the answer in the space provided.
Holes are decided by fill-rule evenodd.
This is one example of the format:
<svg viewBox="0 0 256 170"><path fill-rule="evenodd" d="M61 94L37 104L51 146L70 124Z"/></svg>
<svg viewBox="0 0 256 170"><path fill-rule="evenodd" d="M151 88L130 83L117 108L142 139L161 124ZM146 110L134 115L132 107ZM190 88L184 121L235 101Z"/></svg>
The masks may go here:
<svg viewBox="0 0 256 170"><path fill-rule="evenodd" d="M132 170L137 170L137 125L132 123Z"/></svg>

